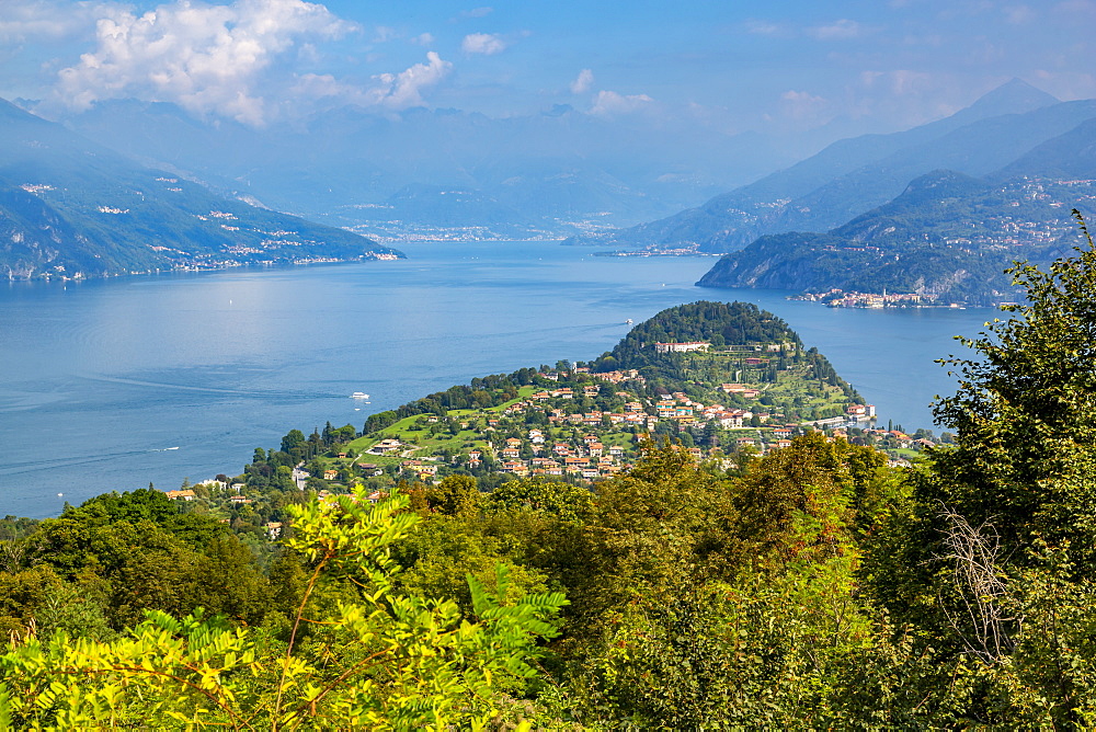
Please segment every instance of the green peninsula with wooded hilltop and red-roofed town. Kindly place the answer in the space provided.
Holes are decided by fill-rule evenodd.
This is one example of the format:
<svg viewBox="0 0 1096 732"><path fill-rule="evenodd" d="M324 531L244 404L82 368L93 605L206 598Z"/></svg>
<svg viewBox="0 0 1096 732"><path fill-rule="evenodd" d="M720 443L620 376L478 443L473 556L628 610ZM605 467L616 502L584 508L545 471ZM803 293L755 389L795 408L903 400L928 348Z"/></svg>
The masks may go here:
<svg viewBox="0 0 1096 732"><path fill-rule="evenodd" d="M589 483L627 470L648 439L681 443L698 459L764 454L811 425L868 418L863 402L776 316L701 301L658 313L593 361L477 378L374 414L349 442L332 435L354 435L350 425L296 431L277 459L305 464L321 490L450 474Z"/></svg>

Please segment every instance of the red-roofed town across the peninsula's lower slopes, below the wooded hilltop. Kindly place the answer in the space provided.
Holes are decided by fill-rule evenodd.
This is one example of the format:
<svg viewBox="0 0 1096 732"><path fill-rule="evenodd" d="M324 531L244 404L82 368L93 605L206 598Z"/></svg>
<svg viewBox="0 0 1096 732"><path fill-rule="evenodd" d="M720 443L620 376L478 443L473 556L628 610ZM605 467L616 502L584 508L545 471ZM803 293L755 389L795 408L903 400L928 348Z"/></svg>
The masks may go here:
<svg viewBox="0 0 1096 732"><path fill-rule="evenodd" d="M831 442L874 445L890 455L890 465L900 467L936 444L924 430L911 435L900 427L877 426L872 404L850 403L840 415L792 424L760 403L753 409L729 408L690 399L681 391L654 399L640 397L637 391L641 389L635 387L641 387L644 379L635 370L591 374L579 367L538 373L538 377L582 386L526 387L517 399L498 408L444 418L407 418L383 436L334 443L307 462L283 467L282 472L295 489L313 491L320 499L346 493L361 483L372 489L367 497L376 502L401 481L430 487L459 474L483 483L491 483L492 478L534 478L592 485L629 470L647 444L664 437L681 443L697 462L710 461L723 470L733 469L743 455L761 457L788 448L794 437L812 431L824 433ZM762 389L743 384L722 384L720 390L753 401L763 394ZM623 400L621 408L572 411L573 405L597 397ZM703 445L693 436L698 427L709 435ZM276 539L285 516L278 501L271 500L269 484L255 480L261 474L246 470L237 478L220 476L165 494L175 501L202 501L236 528L250 523Z"/></svg>

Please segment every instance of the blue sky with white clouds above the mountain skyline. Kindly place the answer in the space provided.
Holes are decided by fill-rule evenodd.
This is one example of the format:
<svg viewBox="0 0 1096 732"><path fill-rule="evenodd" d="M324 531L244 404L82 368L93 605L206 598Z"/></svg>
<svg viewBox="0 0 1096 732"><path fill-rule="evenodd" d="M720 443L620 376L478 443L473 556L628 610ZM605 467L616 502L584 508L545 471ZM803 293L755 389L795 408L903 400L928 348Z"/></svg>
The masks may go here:
<svg viewBox="0 0 1096 732"><path fill-rule="evenodd" d="M675 130L889 131L1013 77L1096 96L1093 27L1093 0L0 0L0 96L251 125L342 104L570 104Z"/></svg>

